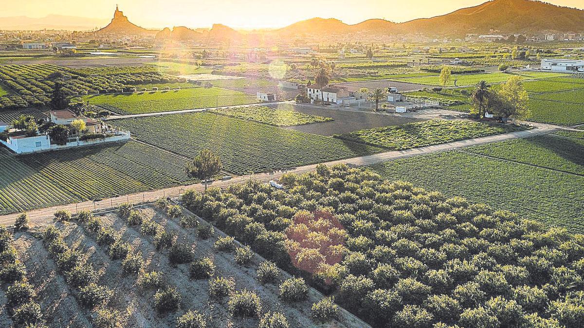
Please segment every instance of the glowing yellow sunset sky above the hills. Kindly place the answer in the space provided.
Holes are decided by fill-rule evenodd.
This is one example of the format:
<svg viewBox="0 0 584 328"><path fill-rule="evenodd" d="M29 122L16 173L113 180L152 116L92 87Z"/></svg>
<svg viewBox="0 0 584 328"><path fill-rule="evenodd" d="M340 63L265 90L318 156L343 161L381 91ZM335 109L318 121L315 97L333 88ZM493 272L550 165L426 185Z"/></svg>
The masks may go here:
<svg viewBox="0 0 584 328"><path fill-rule="evenodd" d="M484 0L22 0L5 1L0 16L43 17L49 14L109 20L116 3L131 22L142 27L208 27L213 23L254 29L283 27L313 17L354 24L370 18L405 22L443 15ZM582 0L547 0L584 8Z"/></svg>

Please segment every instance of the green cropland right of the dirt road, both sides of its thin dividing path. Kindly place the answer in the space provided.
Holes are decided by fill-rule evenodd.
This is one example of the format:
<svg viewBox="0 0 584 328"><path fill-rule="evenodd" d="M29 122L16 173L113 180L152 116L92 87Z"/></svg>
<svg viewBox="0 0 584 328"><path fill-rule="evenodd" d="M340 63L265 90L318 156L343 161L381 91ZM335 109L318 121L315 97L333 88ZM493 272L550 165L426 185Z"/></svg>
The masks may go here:
<svg viewBox="0 0 584 328"><path fill-rule="evenodd" d="M467 197L582 233L584 176L575 174L583 169L581 155L566 154L569 142L549 138L433 153L380 163L371 169L388 179ZM582 154L582 143L577 145L572 152Z"/></svg>

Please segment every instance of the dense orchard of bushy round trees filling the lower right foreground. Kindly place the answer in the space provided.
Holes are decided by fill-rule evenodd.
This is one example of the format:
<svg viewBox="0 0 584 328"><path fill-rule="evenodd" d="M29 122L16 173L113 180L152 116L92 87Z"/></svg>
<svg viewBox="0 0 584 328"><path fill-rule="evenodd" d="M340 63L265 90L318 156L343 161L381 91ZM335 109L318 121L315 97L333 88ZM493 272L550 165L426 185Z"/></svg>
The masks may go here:
<svg viewBox="0 0 584 328"><path fill-rule="evenodd" d="M374 326L579 327L584 236L345 165L183 203Z"/></svg>

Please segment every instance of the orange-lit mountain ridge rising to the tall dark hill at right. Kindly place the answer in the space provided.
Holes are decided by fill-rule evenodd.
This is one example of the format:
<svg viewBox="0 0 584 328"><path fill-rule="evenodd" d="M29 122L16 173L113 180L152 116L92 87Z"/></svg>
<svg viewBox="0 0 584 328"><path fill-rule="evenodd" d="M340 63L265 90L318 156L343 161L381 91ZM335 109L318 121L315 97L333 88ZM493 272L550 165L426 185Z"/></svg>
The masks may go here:
<svg viewBox="0 0 584 328"><path fill-rule="evenodd" d="M493 0L433 18L393 23L370 19L347 25L336 19L313 18L279 29L284 35L298 34L402 34L464 35L467 33L584 32L584 11L531 0Z"/></svg>

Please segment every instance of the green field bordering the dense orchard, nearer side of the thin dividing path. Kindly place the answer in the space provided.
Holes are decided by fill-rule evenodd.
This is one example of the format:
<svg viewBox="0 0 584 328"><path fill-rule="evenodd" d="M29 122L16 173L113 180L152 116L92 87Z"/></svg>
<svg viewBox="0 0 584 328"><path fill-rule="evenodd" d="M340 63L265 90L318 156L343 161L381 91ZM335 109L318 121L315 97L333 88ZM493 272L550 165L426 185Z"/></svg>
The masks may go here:
<svg viewBox="0 0 584 328"><path fill-rule="evenodd" d="M565 226L571 232L584 232L584 177L579 175L460 151L393 160L371 168L390 180L405 180L449 197L463 196L545 224Z"/></svg>

